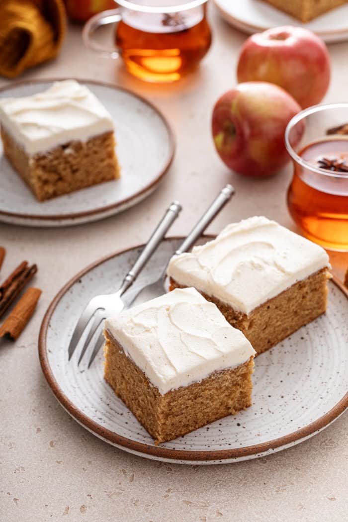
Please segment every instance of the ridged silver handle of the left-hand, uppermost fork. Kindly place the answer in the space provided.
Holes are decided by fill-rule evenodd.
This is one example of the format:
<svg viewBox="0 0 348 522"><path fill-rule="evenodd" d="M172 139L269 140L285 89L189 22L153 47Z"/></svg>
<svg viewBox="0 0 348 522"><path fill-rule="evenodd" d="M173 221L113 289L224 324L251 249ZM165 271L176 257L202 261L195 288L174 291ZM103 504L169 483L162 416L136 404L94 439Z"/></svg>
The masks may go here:
<svg viewBox="0 0 348 522"><path fill-rule="evenodd" d="M133 268L131 268L122 281L121 288L119 289L119 295L125 293L126 290L134 283L140 271L145 267L146 263L157 249L161 241L163 240L167 230L171 227L175 219L178 217L182 209L181 204L178 201L173 201L169 208L167 208L163 218L159 222L157 228L151 235L151 238L141 251L140 256L136 260Z"/></svg>

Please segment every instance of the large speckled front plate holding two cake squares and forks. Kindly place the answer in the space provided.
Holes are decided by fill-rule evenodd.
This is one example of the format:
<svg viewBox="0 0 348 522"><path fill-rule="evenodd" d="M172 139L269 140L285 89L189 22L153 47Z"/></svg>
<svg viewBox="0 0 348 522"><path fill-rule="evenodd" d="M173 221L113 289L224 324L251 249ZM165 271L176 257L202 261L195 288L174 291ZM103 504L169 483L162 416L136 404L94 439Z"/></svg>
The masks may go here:
<svg viewBox="0 0 348 522"><path fill-rule="evenodd" d="M156 279L181 241L164 241L135 286ZM298 444L326 428L347 408L348 293L337 281L330 281L327 314L255 360L253 406L155 446L104 382L103 354L99 353L88 371L86 356L85 363L77 366L78 348L69 363L67 354L85 304L96 294L116 290L138 253L139 248L131 248L80 272L58 293L43 319L39 339L43 372L61 405L87 430L142 457L217 464Z"/></svg>

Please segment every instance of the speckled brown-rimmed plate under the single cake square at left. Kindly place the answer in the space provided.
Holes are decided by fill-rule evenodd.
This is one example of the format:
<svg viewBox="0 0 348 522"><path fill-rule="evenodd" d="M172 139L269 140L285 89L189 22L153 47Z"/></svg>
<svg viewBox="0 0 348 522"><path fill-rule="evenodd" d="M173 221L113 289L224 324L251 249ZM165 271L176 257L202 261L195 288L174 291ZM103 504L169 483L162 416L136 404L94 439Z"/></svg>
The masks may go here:
<svg viewBox="0 0 348 522"><path fill-rule="evenodd" d="M59 78L64 79L64 78ZM0 89L0 98L30 96L56 80L26 81ZM0 139L0 221L29 227L63 227L96 221L136 205L151 194L174 156L173 133L164 116L136 94L81 80L115 121L121 178L40 203L3 155Z"/></svg>

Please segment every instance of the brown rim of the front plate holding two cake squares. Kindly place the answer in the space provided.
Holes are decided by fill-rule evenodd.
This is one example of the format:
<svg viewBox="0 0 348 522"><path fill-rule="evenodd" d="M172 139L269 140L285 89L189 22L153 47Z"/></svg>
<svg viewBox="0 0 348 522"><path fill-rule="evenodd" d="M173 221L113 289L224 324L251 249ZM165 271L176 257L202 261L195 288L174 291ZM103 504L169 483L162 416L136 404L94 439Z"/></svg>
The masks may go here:
<svg viewBox="0 0 348 522"><path fill-rule="evenodd" d="M215 236L205 235L207 239L211 239ZM164 241L171 241L173 239L184 239L181 236L173 236L170 238L166 238ZM47 329L49 327L52 314L54 313L58 302L62 299L63 295L69 290L73 284L76 283L81 277L85 276L91 269L105 263L106 261L130 250L134 250L135 248L141 248L144 245L132 246L130 248L126 248L125 250L117 251L114 254L110 254L106 257L99 259L98 261L92 263L87 266L83 270L81 270L76 276L70 279L65 286L59 290L53 301L51 302L49 308L47 309L44 318L41 323L40 334L39 334L39 359L42 367L43 374L46 378L47 383L52 389L54 395L58 399L58 402L61 403L63 408L65 408L68 413L75 420L77 420L80 424L85 426L89 431L109 441L111 444L116 444L125 449L129 449L134 452L141 453L143 455L149 455L159 458L166 458L172 460L201 460L201 461L210 461L210 460L227 460L234 458L247 457L250 455L258 455L260 453L267 452L268 450L274 450L281 446L286 446L287 444L295 443L296 441L301 441L301 439L309 437L310 435L315 434L315 432L320 431L325 428L332 421L337 419L341 413L344 412L346 408L348 408L348 393L345 394L344 397L329 410L325 415L320 417L314 422L311 422L304 428L301 428L297 431L289 433L288 435L284 435L283 437L275 438L273 441L263 442L262 444L255 444L253 446L246 446L244 448L234 448L234 449L221 449L221 450L212 450L212 451L194 451L194 450L182 450L182 449L170 449L163 448L161 446L150 446L149 444L144 444L141 442L132 441L129 438L123 437L114 433L111 430L107 430L103 428L97 422L92 421L85 413L76 408L76 406L71 402L66 395L62 392L62 389L59 387L59 384L54 378L52 373L48 358L47 358L47 347L46 347L46 335ZM337 278L333 277L332 281L334 284L341 290L341 292L348 299L348 290L343 286ZM170 441L169 441L170 442Z"/></svg>

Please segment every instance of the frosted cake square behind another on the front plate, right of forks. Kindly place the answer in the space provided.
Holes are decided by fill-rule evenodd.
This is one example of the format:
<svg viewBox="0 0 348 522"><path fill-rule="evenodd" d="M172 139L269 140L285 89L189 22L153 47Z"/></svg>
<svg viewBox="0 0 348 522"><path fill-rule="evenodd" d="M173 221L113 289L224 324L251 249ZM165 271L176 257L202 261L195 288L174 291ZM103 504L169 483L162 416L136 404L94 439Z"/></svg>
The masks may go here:
<svg viewBox="0 0 348 522"><path fill-rule="evenodd" d="M329 258L319 245L264 217L227 226L174 256L171 289L195 287L260 354L326 311Z"/></svg>

